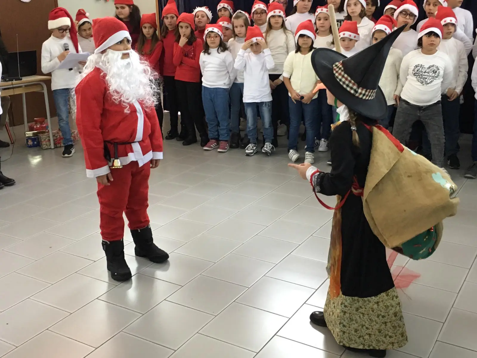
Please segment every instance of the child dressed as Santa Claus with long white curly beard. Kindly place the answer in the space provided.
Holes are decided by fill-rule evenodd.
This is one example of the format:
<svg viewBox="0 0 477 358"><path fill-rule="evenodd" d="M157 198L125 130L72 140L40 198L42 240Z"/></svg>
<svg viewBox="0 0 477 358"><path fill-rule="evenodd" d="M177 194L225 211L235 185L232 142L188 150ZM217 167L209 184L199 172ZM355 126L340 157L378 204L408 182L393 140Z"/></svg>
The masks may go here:
<svg viewBox="0 0 477 358"><path fill-rule="evenodd" d="M107 269L114 280L125 281L131 271L124 260L123 212L136 256L154 263L169 258L154 244L147 216L149 174L162 159L157 88L149 65L131 50L123 22L95 19L93 33L96 50L75 89L76 123L86 174L98 182Z"/></svg>

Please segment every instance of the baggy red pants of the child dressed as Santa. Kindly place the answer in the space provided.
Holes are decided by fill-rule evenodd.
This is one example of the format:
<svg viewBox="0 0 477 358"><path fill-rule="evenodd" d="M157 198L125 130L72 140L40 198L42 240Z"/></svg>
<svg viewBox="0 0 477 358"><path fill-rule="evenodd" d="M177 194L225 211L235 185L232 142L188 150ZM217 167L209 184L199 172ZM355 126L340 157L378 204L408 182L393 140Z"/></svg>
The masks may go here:
<svg viewBox="0 0 477 358"><path fill-rule="evenodd" d="M101 236L103 240L121 240L124 236L123 212L129 229L142 229L149 225L147 216L150 163L139 167L136 161L123 168L111 169L110 185L98 184Z"/></svg>

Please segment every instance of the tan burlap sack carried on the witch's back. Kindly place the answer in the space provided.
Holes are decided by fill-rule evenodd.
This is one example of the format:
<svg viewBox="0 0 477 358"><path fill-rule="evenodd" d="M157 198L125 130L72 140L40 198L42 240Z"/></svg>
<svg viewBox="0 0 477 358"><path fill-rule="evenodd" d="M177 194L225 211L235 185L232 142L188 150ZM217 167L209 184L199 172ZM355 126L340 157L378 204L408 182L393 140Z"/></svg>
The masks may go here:
<svg viewBox="0 0 477 358"><path fill-rule="evenodd" d="M386 247L399 246L456 215L456 191L446 172L402 146L384 128L373 127L363 208Z"/></svg>

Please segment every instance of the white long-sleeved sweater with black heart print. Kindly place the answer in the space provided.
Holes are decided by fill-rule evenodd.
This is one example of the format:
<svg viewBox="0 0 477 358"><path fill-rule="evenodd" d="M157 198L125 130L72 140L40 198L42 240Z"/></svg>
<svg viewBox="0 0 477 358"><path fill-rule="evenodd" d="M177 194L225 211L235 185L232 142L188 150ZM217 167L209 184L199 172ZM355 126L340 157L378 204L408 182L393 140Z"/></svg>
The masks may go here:
<svg viewBox="0 0 477 358"><path fill-rule="evenodd" d="M453 65L444 52L426 55L421 49L414 50L405 55L401 63L401 98L413 105L432 105L440 101L452 78Z"/></svg>

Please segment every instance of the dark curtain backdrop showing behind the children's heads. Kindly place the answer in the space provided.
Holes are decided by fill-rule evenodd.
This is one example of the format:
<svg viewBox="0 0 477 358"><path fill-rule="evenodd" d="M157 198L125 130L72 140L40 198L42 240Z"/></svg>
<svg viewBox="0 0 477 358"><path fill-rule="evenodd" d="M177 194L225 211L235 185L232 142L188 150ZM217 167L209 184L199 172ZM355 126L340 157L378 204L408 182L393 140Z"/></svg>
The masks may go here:
<svg viewBox="0 0 477 358"><path fill-rule="evenodd" d="M167 3L167 0L157 0L159 3L159 9L162 10ZM220 0L176 0L177 7L180 12L192 12L197 6L208 6L214 15L212 19L213 22L217 21L217 4ZM234 0L235 9L244 10L250 12L254 0ZM262 0L265 3L268 3L268 0ZM318 5L324 5L326 0L313 0L312 9L315 9ZM378 8L374 14L374 18L379 19L383 15L382 9L389 4L391 0L381 0L381 7ZM418 21L425 19L425 12L423 4L425 0L415 0L419 8L419 18ZM287 13L291 11L293 7L293 0L288 0L288 9ZM474 17L474 28L477 26L477 0L464 0L462 3L462 8L467 9L472 12ZM417 23L417 22L416 22ZM474 33L474 37L476 34ZM472 125L474 118L474 91L472 85L470 84L470 74L472 73L472 68L474 65L474 59L472 55L469 55L469 75L467 84L464 87L464 104L461 106L460 111L460 129L462 133L473 133Z"/></svg>

